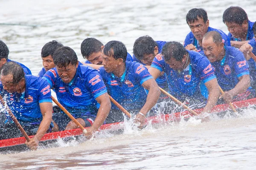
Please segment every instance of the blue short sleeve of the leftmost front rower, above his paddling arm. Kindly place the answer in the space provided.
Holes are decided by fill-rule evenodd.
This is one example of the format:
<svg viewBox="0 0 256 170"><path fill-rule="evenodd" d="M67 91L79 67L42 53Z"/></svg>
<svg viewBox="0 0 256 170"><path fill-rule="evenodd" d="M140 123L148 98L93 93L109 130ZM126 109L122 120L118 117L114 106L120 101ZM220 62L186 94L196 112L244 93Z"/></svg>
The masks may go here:
<svg viewBox="0 0 256 170"><path fill-rule="evenodd" d="M41 78L38 78L41 79ZM43 102L52 102L51 99L51 89L50 85L48 84L46 79L41 79L40 81L40 87L38 89L38 101L39 103Z"/></svg>

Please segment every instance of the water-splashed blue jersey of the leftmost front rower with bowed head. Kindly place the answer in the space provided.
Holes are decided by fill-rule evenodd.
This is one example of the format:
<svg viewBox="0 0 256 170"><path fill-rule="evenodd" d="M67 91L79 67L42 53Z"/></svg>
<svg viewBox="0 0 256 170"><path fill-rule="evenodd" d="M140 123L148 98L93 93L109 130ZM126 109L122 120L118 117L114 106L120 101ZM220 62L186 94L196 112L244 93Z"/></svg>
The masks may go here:
<svg viewBox="0 0 256 170"><path fill-rule="evenodd" d="M0 83L0 94L21 124L40 124L43 116L39 103L52 102L50 86L45 79L25 75L26 90L23 93L8 93ZM7 116L9 121L11 117Z"/></svg>

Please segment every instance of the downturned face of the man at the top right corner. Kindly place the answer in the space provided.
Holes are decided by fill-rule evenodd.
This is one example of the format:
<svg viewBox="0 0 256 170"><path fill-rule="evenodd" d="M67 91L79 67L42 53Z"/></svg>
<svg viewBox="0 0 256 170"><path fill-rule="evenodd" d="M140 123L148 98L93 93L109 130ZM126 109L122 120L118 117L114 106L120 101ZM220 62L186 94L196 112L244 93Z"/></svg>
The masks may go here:
<svg viewBox="0 0 256 170"><path fill-rule="evenodd" d="M235 38L240 38L243 34L246 34L248 25L246 22L242 23L241 25L237 23L225 23L227 26L227 30L230 34L233 35Z"/></svg>

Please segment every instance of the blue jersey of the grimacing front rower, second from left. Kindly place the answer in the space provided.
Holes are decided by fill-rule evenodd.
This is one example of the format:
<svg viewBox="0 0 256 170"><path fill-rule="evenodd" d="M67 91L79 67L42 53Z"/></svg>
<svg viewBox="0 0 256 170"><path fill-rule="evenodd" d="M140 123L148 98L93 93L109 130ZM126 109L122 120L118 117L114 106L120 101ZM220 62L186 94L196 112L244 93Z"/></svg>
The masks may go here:
<svg viewBox="0 0 256 170"><path fill-rule="evenodd" d="M107 93L99 72L86 65L78 65L76 75L68 84L61 80L56 68L47 71L43 78L55 90L61 105L73 116L76 112L96 113L99 107L96 98Z"/></svg>

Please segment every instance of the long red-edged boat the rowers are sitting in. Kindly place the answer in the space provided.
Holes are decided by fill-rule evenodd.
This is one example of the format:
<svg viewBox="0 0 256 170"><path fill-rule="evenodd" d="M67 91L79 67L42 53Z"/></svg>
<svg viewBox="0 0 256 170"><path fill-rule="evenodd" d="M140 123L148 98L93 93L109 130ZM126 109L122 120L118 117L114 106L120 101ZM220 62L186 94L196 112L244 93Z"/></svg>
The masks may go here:
<svg viewBox="0 0 256 170"><path fill-rule="evenodd" d="M243 109L248 107L256 106L256 98L248 99L239 102L233 102L233 105L236 109ZM195 109L196 113L200 114L203 111L201 109ZM212 113L223 113L225 111L232 111L228 104L216 105L212 108ZM189 116L193 116L189 111L171 113L171 114L161 114L157 116L151 116L146 119L146 123L156 124L160 122L172 122L179 121L181 118L186 118ZM112 124L102 125L99 130L121 130L123 129L124 122L116 122ZM73 129L73 130L65 130L54 133L46 133L41 139L41 143L47 143L50 141L54 141L60 138L70 138L74 136L81 136L83 132L81 129ZM33 138L34 136L29 136L29 138ZM13 138L13 139L5 139L0 140L0 153L6 152L8 150L28 150L25 145L26 139L24 137ZM21 149L22 148L22 149Z"/></svg>

